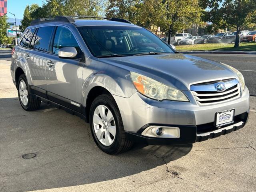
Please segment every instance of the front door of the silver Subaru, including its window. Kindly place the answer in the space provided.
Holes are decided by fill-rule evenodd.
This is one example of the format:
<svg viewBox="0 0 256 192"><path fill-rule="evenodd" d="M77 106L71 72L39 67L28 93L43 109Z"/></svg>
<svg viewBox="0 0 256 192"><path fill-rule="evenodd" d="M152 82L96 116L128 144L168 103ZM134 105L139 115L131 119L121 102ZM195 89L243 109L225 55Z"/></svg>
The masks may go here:
<svg viewBox="0 0 256 192"><path fill-rule="evenodd" d="M58 52L63 47L75 47L76 58L60 58ZM84 56L72 31L57 26L52 40L52 54L46 62L48 98L74 110L80 110L82 103L82 69Z"/></svg>

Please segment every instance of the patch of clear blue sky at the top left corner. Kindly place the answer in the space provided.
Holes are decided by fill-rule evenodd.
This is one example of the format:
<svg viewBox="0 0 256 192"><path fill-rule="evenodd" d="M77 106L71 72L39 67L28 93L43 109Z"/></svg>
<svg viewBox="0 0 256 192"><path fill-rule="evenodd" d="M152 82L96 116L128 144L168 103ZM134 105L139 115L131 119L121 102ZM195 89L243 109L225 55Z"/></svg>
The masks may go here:
<svg viewBox="0 0 256 192"><path fill-rule="evenodd" d="M42 2L44 2L44 0L7 0L7 11L16 14L16 18L22 19L27 5L36 3L41 6ZM7 16L9 18L14 18L14 16L8 12Z"/></svg>

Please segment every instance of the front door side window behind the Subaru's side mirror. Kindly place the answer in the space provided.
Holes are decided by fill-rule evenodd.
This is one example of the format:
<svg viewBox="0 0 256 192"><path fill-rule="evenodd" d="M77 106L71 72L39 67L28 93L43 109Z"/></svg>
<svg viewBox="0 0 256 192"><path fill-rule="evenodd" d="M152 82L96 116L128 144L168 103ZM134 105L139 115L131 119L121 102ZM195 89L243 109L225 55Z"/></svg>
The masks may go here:
<svg viewBox="0 0 256 192"><path fill-rule="evenodd" d="M80 48L72 32L64 27L58 27L54 37L52 53L58 54L59 49L63 47L74 47L77 52L80 52Z"/></svg>

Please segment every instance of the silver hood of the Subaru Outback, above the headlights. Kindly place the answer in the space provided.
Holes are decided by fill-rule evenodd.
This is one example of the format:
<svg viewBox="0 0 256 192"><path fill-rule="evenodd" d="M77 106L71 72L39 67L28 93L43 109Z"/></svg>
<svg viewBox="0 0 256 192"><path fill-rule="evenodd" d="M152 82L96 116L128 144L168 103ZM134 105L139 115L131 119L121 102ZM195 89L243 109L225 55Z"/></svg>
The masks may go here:
<svg viewBox="0 0 256 192"><path fill-rule="evenodd" d="M220 62L186 54L163 54L101 58L102 62L143 74L180 90L189 90L198 82L236 78L236 74Z"/></svg>

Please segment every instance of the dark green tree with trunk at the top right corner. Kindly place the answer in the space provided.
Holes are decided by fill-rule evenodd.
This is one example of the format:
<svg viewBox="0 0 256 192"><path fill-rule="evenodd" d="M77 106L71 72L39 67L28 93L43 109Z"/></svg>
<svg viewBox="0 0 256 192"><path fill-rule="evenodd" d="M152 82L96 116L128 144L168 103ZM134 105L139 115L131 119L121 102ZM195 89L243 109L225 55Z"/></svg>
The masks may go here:
<svg viewBox="0 0 256 192"><path fill-rule="evenodd" d="M236 42L239 46L240 30L255 24L255 0L204 0L207 4L204 18L216 26L236 29Z"/></svg>

